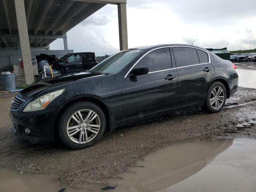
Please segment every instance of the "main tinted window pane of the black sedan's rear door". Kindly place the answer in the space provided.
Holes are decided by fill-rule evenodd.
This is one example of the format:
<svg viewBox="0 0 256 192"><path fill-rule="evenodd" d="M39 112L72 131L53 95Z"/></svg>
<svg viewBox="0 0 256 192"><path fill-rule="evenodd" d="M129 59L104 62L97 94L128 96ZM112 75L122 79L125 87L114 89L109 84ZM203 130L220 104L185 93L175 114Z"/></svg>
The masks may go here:
<svg viewBox="0 0 256 192"><path fill-rule="evenodd" d="M200 64L195 48L174 47L173 53L177 67Z"/></svg>

